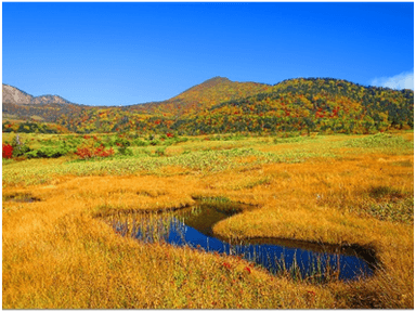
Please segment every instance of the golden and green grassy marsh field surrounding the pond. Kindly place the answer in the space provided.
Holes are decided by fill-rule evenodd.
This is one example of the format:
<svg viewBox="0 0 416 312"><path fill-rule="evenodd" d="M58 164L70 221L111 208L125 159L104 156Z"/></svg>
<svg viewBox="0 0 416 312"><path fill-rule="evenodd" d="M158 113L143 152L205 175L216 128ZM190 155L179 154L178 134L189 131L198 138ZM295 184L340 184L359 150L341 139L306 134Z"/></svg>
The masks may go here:
<svg viewBox="0 0 416 312"><path fill-rule="evenodd" d="M22 139L32 148L69 142ZM2 309L414 308L413 132L195 136L129 150L2 159ZM375 250L380 268L349 283L294 280L237 257L122 237L98 217L196 198L259 207L214 224L223 237L355 244Z"/></svg>

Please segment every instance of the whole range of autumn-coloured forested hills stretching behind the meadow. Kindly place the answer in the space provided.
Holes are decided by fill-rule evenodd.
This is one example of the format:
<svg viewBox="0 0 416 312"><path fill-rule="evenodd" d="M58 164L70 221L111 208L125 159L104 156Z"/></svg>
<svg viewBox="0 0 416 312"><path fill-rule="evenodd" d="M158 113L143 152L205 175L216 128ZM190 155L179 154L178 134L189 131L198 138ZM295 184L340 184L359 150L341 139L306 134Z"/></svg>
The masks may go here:
<svg viewBox="0 0 416 312"><path fill-rule="evenodd" d="M47 121L79 133L372 133L412 129L414 94L330 78L289 79L270 86L216 77L170 100L130 106L3 104L2 129L25 132L34 128L13 121L20 119L26 126Z"/></svg>

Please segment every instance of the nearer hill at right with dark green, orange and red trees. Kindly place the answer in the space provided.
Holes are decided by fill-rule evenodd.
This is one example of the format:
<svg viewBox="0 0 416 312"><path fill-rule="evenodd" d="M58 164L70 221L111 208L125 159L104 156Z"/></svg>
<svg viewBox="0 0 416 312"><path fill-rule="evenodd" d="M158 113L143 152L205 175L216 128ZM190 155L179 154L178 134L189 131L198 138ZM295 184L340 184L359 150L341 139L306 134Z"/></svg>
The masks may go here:
<svg viewBox="0 0 416 312"><path fill-rule="evenodd" d="M178 120L172 129L194 133L325 131L413 128L414 91L363 87L330 78L289 79L266 92L211 106Z"/></svg>

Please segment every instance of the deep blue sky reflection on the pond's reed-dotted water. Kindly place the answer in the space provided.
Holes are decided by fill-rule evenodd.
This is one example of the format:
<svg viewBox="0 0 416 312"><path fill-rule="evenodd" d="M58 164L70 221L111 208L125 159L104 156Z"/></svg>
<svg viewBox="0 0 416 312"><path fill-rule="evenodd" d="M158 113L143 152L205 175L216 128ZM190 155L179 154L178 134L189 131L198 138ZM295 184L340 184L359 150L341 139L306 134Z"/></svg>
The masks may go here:
<svg viewBox="0 0 416 312"><path fill-rule="evenodd" d="M162 239L176 246L187 245L211 252L218 251L220 253L240 255L246 260L261 264L271 273L278 271L282 266L290 269L290 266L296 263L303 277L316 274L320 271L321 273L325 272L327 265L332 268L333 272L339 272L340 280L354 280L361 276L362 273L365 275L373 274L368 264L363 259L354 256L323 253L271 244L231 245L210 235L205 235L177 218L169 220L169 226L167 226L166 220L164 222L165 223L161 221L156 222L156 224L154 223L152 226L145 225L144 227L143 225L135 224L133 225L134 229L131 229L133 233L129 232L138 239L148 243ZM123 227L123 225L121 225L121 227ZM118 223L118 226L116 224L114 224L114 226L120 229L120 223ZM155 229L156 231L154 231ZM154 234L155 232L157 232L156 236ZM338 268L340 270L338 270Z"/></svg>

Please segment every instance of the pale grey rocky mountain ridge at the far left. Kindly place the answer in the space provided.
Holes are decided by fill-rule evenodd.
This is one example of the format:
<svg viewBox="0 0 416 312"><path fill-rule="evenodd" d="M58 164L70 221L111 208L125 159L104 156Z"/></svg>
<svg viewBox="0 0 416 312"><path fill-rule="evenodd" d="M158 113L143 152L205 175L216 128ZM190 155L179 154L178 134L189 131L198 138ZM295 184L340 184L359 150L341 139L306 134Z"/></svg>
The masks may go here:
<svg viewBox="0 0 416 312"><path fill-rule="evenodd" d="M1 102L25 105L25 104L73 104L69 101L57 95L32 96L15 87L1 84Z"/></svg>

